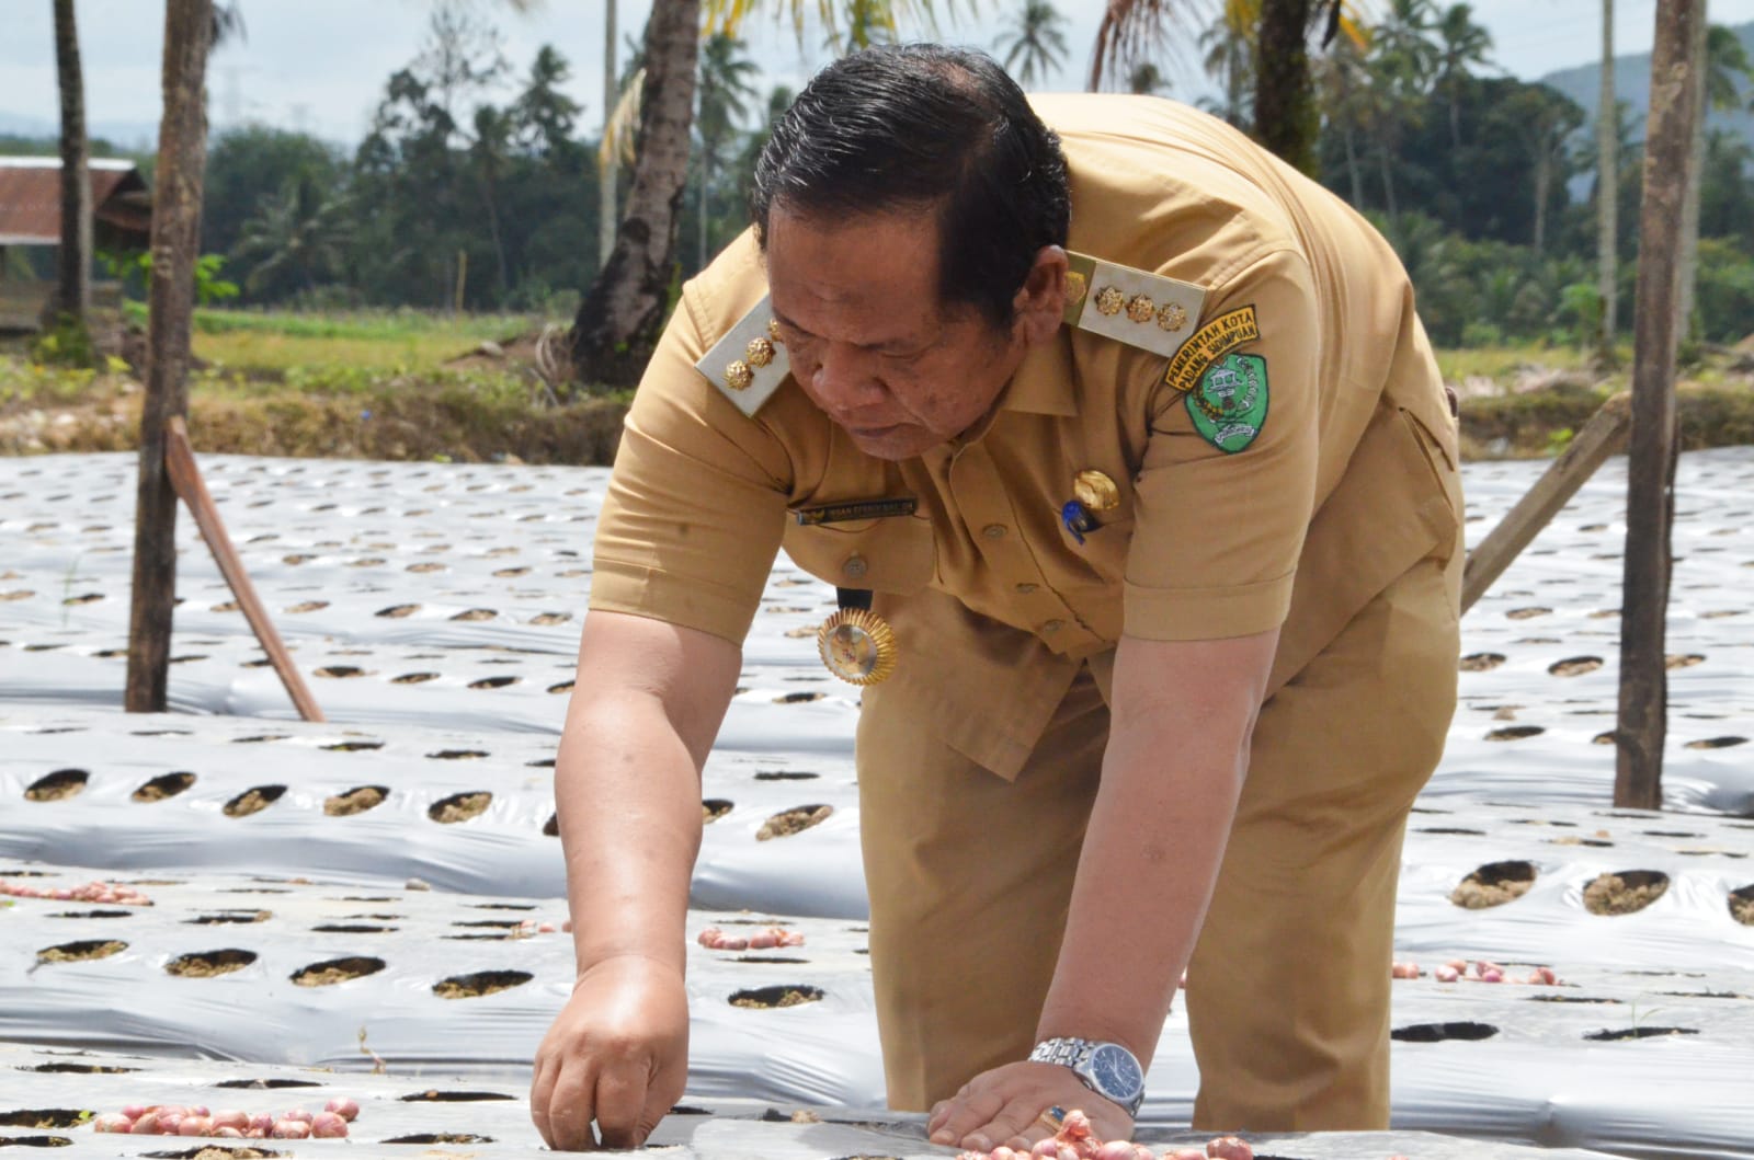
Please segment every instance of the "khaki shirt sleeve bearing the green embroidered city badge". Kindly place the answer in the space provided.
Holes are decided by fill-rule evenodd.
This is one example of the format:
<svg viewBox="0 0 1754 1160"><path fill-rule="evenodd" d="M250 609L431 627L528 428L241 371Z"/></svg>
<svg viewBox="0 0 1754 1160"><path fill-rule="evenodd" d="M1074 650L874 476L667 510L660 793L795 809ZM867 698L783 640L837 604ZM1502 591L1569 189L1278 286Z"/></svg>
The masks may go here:
<svg viewBox="0 0 1754 1160"><path fill-rule="evenodd" d="M1184 361L1180 377L1172 363L1170 380L1147 394L1126 559L1130 636L1247 636L1279 627L1291 606L1316 494L1324 338L1301 254L1254 259L1209 293L1201 322L1230 315L1228 333L1249 335L1242 310L1258 336L1217 342L1223 354Z"/></svg>

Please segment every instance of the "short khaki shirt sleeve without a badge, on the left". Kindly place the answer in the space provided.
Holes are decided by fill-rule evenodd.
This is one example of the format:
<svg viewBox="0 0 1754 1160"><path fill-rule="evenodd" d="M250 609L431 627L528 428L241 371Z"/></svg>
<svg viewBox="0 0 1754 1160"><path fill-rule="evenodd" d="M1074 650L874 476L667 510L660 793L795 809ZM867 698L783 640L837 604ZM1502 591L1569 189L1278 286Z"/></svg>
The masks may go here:
<svg viewBox="0 0 1754 1160"><path fill-rule="evenodd" d="M640 378L596 526L591 608L742 645L774 568L791 466L781 442L695 370L698 286Z"/></svg>

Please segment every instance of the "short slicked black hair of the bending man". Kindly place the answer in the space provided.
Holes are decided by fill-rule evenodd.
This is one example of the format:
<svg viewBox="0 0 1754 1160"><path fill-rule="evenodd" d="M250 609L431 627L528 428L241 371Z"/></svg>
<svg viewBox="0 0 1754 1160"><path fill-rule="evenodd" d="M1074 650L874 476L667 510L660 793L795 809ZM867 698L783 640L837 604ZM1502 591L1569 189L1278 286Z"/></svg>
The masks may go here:
<svg viewBox="0 0 1754 1160"><path fill-rule="evenodd" d="M938 44L872 47L816 74L756 161L763 247L775 205L830 221L933 207L938 296L998 326L1072 219L1059 137L991 56Z"/></svg>

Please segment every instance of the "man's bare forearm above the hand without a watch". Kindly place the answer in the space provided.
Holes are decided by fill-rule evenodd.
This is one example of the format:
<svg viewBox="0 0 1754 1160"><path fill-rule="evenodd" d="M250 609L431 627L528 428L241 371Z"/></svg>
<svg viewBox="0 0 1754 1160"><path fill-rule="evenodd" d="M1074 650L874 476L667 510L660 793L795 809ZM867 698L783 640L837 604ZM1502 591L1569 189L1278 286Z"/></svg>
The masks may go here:
<svg viewBox="0 0 1754 1160"><path fill-rule="evenodd" d="M577 711L561 736L554 796L579 973L617 955L681 971L700 775L661 704L628 692Z"/></svg>

